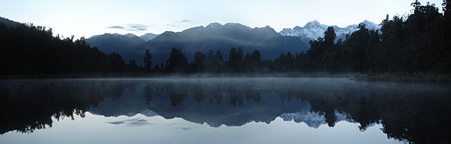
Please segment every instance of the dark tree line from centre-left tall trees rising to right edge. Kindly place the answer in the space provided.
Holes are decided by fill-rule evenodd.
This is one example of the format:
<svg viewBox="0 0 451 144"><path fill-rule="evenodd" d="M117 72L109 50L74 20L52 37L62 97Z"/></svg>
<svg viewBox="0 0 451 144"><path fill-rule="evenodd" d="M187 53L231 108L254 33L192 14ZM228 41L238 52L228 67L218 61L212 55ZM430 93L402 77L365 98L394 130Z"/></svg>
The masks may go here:
<svg viewBox="0 0 451 144"><path fill-rule="evenodd" d="M434 4L412 3L413 14L387 15L382 28L372 30L360 23L345 40L337 40L334 27L323 38L310 41L310 49L301 53L281 53L275 60L261 60L258 50L245 53L241 47L229 51L228 61L221 51L194 53L188 63L180 49L172 48L166 64L148 71L157 73L240 73L240 72L451 72L450 1L443 1L443 13ZM147 51L149 52L149 51ZM145 62L151 64L151 58Z"/></svg>

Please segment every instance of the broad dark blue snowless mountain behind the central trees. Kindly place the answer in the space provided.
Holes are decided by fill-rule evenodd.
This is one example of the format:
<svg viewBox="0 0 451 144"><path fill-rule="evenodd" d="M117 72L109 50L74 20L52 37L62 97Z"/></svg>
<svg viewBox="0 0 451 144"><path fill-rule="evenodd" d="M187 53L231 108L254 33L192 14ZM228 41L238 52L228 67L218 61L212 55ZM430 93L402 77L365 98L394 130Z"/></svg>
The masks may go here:
<svg viewBox="0 0 451 144"><path fill-rule="evenodd" d="M196 51L228 51L231 47L242 47L245 52L259 50L263 60L274 60L281 51L296 53L308 50L308 45L299 38L281 36L271 27L252 29L239 23L211 23L207 27L194 27L179 33L165 32L136 50L143 53L149 49L155 62L165 62L172 47L185 52L190 62L194 60ZM228 57L228 53L223 54Z"/></svg>

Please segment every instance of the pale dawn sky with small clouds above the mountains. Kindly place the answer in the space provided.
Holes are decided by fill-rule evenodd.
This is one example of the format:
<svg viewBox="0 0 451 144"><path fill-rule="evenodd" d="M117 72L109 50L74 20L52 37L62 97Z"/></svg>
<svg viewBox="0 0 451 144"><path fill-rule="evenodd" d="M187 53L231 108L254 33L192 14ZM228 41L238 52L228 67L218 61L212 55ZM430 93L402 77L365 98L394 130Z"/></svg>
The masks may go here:
<svg viewBox="0 0 451 144"><path fill-rule="evenodd" d="M380 23L387 14L410 14L412 0L0 0L0 16L51 27L62 36L89 38L118 33L141 36L206 26L269 25L277 32L317 20L345 27L364 20ZM422 4L427 1L420 0ZM431 0L441 9L442 0Z"/></svg>

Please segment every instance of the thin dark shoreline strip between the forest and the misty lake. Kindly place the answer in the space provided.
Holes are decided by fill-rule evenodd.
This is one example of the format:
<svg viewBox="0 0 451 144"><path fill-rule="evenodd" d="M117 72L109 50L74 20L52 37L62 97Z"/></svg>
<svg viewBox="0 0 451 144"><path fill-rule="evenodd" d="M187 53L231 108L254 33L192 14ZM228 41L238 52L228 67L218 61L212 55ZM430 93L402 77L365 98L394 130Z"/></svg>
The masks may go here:
<svg viewBox="0 0 451 144"><path fill-rule="evenodd" d="M44 80L83 78L206 78L206 77L349 77L367 82L451 83L451 73L76 73L39 75L0 75L0 80Z"/></svg>

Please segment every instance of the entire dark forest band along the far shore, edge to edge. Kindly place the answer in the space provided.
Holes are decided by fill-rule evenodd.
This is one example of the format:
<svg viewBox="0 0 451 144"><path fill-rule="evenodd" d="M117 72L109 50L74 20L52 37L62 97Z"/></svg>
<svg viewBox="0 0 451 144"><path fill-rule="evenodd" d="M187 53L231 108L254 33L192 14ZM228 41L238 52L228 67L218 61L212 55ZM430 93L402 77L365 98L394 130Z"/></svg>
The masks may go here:
<svg viewBox="0 0 451 144"><path fill-rule="evenodd" d="M166 63L153 64L152 51L143 51L143 66L136 60L123 62L119 53L106 54L90 47L85 38L52 36L52 29L0 23L0 75L40 73L449 73L451 72L451 8L411 4L412 14L386 16L382 28L359 30L337 40L333 27L323 38L310 41L300 53L282 52L275 60L262 60L258 50L244 53L232 47L223 51L197 51L188 62L183 51L172 48Z"/></svg>

